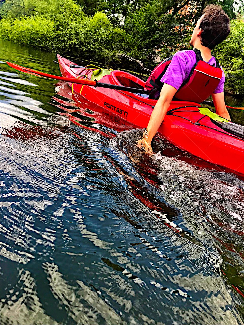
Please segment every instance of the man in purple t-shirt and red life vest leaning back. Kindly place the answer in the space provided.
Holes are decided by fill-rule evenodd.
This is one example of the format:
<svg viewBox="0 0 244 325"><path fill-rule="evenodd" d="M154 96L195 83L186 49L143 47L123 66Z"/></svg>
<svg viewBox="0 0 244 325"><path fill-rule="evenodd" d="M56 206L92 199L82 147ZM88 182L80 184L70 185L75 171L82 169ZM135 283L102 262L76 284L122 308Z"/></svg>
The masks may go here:
<svg viewBox="0 0 244 325"><path fill-rule="evenodd" d="M198 19L190 45L193 50L176 52L153 70L146 82L149 98L158 99L139 147L153 153L151 141L164 120L171 100L198 103L212 95L216 113L228 120L224 103L224 71L211 49L230 33L230 19L221 6L208 5Z"/></svg>

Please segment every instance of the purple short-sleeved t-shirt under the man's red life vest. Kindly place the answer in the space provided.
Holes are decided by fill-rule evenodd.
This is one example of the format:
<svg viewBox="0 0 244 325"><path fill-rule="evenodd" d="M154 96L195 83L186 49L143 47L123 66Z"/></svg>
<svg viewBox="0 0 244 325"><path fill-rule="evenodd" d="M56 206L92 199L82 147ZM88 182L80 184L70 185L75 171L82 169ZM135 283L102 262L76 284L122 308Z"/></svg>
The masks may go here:
<svg viewBox="0 0 244 325"><path fill-rule="evenodd" d="M183 84L183 81L189 77L189 74L196 63L197 57L194 50L178 51L174 54L167 71L160 81L178 90ZM216 61L214 57L212 57L207 63L210 65L214 64L216 67ZM213 94L219 94L224 91L225 75L222 67L221 70L223 71L222 78L220 79L219 84L215 88Z"/></svg>

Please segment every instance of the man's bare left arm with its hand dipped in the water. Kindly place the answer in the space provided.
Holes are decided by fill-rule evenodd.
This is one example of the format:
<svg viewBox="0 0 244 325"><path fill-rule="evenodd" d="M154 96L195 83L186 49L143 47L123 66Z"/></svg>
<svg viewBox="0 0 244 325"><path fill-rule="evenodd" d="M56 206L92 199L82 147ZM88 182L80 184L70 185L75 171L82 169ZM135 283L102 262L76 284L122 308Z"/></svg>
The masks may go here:
<svg viewBox="0 0 244 325"><path fill-rule="evenodd" d="M155 105L155 108L151 114L147 130L144 132L142 140L138 141L138 145L143 147L146 152L153 153L151 142L153 137L155 136L159 126L164 120L164 117L167 113L169 108L169 104L174 97L177 89L168 85L164 84L161 92L160 97Z"/></svg>

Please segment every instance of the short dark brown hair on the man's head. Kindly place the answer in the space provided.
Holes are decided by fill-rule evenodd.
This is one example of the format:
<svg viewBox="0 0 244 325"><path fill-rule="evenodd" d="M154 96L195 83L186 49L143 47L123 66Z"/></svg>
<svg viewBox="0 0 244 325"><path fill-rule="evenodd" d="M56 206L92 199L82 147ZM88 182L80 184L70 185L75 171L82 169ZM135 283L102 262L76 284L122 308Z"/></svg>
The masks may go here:
<svg viewBox="0 0 244 325"><path fill-rule="evenodd" d="M200 22L201 44L210 49L224 41L230 33L230 19L221 6L208 5Z"/></svg>

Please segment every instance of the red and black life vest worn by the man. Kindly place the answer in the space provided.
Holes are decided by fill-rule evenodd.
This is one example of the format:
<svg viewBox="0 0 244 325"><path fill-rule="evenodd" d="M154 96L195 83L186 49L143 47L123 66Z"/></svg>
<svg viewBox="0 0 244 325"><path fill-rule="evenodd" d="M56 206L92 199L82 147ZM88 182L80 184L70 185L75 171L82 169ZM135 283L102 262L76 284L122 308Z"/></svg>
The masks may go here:
<svg viewBox="0 0 244 325"><path fill-rule="evenodd" d="M197 63L192 68L187 80L183 82L176 92L174 99L201 103L214 92L222 78L223 72L217 59L215 59L216 67L214 67L203 61L201 52L198 49L194 49L194 52L197 56ZM160 80L167 71L172 57L165 59L157 65L147 79L145 87L149 91L149 98L159 98L164 84Z"/></svg>

